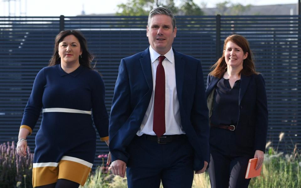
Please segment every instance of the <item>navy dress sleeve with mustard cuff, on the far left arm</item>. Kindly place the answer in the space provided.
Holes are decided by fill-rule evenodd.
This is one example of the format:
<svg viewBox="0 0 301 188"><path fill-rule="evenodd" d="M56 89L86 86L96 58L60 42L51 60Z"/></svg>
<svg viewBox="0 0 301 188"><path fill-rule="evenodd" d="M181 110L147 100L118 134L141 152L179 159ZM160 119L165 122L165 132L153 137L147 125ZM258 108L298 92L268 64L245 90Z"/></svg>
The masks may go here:
<svg viewBox="0 0 301 188"><path fill-rule="evenodd" d="M44 86L46 84L44 71L45 69L40 70L35 77L30 97L24 109L20 128L29 130L29 135L31 135L41 113Z"/></svg>

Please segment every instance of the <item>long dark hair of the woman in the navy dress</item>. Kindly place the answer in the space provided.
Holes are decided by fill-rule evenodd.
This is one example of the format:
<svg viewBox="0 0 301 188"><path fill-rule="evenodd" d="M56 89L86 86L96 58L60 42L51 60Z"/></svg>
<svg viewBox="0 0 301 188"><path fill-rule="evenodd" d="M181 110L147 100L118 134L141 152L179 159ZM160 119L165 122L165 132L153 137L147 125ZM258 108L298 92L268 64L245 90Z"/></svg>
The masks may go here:
<svg viewBox="0 0 301 188"><path fill-rule="evenodd" d="M79 64L91 69L91 62L94 57L88 51L86 38L82 35L81 32L76 30L61 31L58 35L56 35L53 55L49 60L48 66L53 66L61 63L61 58L59 57L59 43L62 42L62 40L68 35L75 36L80 43L81 50L82 50L82 57L79 58Z"/></svg>

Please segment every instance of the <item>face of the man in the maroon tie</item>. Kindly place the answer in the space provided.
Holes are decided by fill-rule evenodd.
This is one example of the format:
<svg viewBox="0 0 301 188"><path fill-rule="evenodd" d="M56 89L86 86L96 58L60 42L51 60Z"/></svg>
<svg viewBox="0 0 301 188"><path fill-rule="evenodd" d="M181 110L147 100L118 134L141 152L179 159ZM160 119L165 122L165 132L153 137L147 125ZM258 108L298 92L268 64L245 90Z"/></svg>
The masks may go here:
<svg viewBox="0 0 301 188"><path fill-rule="evenodd" d="M150 26L146 27L146 36L150 46L159 54L164 55L172 48L177 28L172 29L172 18L156 14L150 18Z"/></svg>

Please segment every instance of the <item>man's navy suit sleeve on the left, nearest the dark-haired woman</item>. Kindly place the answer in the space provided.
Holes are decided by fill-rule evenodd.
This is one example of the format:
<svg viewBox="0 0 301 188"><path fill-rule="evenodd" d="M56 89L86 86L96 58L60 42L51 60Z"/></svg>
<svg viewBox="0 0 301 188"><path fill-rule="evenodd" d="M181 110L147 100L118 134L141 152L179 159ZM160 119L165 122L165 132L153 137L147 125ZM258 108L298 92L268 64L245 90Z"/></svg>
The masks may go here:
<svg viewBox="0 0 301 188"><path fill-rule="evenodd" d="M112 153L112 161L122 160L127 163L129 154L125 150L125 145L120 140L120 128L124 125L131 114L130 109L130 86L129 76L124 59L119 65L118 77L114 89L112 109L109 120L109 149Z"/></svg>

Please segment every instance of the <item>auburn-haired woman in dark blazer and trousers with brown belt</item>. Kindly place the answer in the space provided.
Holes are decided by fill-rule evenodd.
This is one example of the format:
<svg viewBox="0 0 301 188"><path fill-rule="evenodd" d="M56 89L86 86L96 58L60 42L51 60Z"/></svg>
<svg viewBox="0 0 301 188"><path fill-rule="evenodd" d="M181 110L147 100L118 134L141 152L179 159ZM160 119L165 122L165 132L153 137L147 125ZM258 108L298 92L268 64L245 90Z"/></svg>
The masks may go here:
<svg viewBox="0 0 301 188"><path fill-rule="evenodd" d="M264 158L267 139L267 95L261 74L255 71L246 38L230 35L223 56L207 79L210 118L209 177L212 188L247 188L249 159Z"/></svg>

